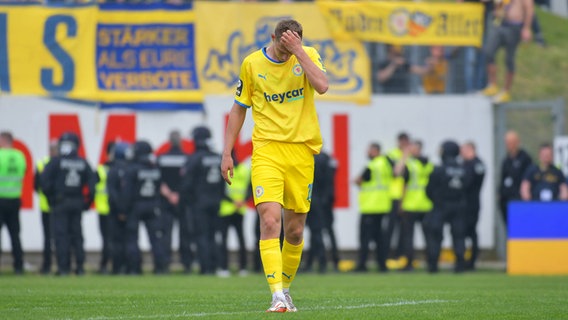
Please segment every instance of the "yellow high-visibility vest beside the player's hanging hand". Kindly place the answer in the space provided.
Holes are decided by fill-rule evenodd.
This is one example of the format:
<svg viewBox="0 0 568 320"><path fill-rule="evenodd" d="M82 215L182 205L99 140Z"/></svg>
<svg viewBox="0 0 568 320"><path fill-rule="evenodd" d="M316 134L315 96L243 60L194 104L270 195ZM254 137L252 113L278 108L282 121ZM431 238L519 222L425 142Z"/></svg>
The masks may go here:
<svg viewBox="0 0 568 320"><path fill-rule="evenodd" d="M233 170L232 184L227 186L227 196L233 200L223 199L219 208L219 215L226 217L238 211L240 214L246 213L246 208L237 210L234 201L244 201L247 196L247 188L250 184L250 168L247 164L241 163Z"/></svg>

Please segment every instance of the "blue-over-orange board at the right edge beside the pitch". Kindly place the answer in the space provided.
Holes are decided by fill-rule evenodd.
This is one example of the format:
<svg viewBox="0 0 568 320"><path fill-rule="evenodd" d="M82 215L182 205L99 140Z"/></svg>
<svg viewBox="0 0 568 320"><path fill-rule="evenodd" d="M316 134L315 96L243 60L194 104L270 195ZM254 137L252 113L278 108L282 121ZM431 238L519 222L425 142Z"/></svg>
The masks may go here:
<svg viewBox="0 0 568 320"><path fill-rule="evenodd" d="M568 274L568 202L509 204L507 273Z"/></svg>

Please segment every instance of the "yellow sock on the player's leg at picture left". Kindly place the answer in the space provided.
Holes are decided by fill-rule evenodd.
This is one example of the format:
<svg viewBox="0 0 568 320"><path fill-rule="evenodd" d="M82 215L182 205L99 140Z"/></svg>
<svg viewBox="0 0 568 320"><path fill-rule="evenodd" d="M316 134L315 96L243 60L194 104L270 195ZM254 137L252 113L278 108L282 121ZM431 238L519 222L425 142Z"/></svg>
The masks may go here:
<svg viewBox="0 0 568 320"><path fill-rule="evenodd" d="M282 253L280 239L259 241L260 259L264 267L266 281L272 293L282 291Z"/></svg>

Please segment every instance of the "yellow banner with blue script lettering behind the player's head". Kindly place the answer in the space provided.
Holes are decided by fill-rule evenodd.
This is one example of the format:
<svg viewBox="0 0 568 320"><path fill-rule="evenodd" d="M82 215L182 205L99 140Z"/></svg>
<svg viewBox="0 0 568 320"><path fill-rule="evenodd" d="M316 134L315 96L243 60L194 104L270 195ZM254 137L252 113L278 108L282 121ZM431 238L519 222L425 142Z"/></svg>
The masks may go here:
<svg viewBox="0 0 568 320"><path fill-rule="evenodd" d="M368 103L370 63L358 39L331 38L313 3L195 3L198 17L197 64L206 94L234 94L240 65L248 54L268 46L278 21L298 20L304 44L320 53L330 82L327 100Z"/></svg>

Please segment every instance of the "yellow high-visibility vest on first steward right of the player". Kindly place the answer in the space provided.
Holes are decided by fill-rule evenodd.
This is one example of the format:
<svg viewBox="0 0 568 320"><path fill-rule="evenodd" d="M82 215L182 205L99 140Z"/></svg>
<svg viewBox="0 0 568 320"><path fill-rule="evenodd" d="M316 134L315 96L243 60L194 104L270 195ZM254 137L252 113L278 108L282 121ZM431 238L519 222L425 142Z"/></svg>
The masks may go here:
<svg viewBox="0 0 568 320"><path fill-rule="evenodd" d="M362 214L386 214L392 209L389 186L392 166L384 156L375 157L368 166L371 178L361 184L359 210Z"/></svg>

